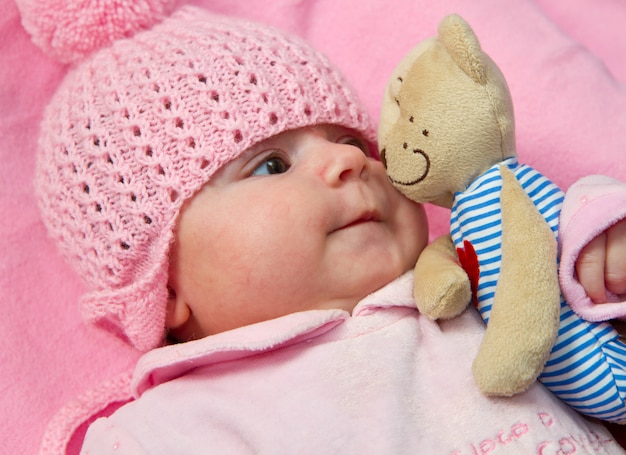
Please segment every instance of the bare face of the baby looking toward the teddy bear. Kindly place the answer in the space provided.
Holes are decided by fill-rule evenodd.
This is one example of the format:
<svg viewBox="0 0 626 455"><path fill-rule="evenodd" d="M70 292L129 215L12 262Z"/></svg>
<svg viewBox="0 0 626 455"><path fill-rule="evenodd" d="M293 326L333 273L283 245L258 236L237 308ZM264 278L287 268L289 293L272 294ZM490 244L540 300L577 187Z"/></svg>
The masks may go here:
<svg viewBox="0 0 626 455"><path fill-rule="evenodd" d="M172 250L174 334L201 338L296 311L352 311L411 269L421 205L358 136L288 131L224 166L184 207Z"/></svg>

